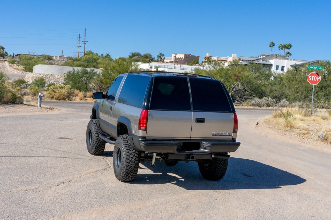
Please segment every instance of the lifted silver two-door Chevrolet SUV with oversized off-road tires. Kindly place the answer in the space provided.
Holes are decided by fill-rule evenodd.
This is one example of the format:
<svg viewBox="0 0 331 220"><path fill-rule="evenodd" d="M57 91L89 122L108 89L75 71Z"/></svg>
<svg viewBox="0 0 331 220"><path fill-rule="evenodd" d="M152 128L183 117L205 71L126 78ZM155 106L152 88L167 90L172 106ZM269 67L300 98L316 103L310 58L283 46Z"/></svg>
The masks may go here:
<svg viewBox="0 0 331 220"><path fill-rule="evenodd" d="M122 182L134 180L144 161L196 161L205 179L219 180L227 153L240 146L232 100L213 77L131 71L93 98L87 150L100 155L106 142L114 144L114 173Z"/></svg>

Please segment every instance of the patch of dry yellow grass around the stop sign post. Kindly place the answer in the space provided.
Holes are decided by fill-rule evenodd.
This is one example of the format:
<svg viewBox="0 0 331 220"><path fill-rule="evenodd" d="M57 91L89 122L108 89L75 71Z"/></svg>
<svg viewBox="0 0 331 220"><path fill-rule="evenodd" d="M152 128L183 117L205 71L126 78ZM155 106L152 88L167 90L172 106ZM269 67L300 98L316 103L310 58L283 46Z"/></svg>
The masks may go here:
<svg viewBox="0 0 331 220"><path fill-rule="evenodd" d="M310 116L310 111L299 108L275 110L266 122L279 130L293 131L305 138L319 139L331 143L331 113L318 112Z"/></svg>

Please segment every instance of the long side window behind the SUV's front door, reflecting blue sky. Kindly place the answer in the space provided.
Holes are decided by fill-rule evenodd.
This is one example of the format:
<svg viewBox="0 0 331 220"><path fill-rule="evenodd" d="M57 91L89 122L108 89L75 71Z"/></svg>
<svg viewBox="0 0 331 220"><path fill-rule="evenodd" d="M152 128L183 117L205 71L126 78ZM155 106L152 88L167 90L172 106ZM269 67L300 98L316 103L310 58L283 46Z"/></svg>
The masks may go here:
<svg viewBox="0 0 331 220"><path fill-rule="evenodd" d="M147 76L128 74L119 93L118 102L142 108L150 79Z"/></svg>

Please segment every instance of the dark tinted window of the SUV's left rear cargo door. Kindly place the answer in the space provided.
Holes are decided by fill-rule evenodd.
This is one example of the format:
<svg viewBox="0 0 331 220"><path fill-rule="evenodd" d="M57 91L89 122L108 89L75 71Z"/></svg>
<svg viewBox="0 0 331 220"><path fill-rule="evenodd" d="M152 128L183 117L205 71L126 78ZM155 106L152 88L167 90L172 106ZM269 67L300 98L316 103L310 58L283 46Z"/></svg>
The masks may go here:
<svg viewBox="0 0 331 220"><path fill-rule="evenodd" d="M190 111L191 99L186 77L155 77L150 109Z"/></svg>

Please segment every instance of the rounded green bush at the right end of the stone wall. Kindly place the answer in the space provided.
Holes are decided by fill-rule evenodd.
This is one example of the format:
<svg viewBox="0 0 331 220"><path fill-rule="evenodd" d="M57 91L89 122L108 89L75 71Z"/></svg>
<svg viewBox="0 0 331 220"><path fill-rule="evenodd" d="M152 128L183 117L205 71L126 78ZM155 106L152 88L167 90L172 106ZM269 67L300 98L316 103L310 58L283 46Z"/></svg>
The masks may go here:
<svg viewBox="0 0 331 220"><path fill-rule="evenodd" d="M94 70L72 68L64 77L64 85L70 85L72 89L81 92L88 92L92 89L92 81L97 75L98 73Z"/></svg>

